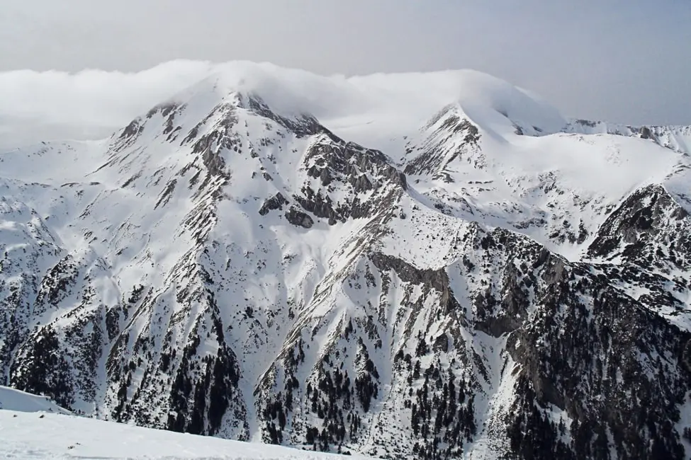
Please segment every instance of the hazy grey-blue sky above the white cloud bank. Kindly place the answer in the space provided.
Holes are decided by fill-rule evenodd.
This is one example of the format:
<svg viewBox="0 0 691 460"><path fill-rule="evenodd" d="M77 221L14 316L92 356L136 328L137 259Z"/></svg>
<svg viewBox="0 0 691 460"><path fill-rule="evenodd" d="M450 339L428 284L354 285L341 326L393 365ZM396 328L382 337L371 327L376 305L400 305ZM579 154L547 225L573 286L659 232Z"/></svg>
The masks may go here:
<svg viewBox="0 0 691 460"><path fill-rule="evenodd" d="M691 124L689 0L0 4L0 71L136 71L179 58L347 75L471 68L564 115Z"/></svg>

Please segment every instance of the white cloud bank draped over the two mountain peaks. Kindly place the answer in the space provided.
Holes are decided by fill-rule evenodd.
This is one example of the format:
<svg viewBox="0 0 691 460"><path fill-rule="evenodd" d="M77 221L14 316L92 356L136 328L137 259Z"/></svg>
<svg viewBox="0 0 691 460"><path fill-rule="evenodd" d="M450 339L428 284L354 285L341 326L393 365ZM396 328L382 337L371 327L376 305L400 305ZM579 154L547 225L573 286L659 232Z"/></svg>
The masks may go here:
<svg viewBox="0 0 691 460"><path fill-rule="evenodd" d="M179 60L135 73L0 73L0 147L103 139L167 100L211 93L215 103L232 91L257 93L284 115L310 113L339 130L383 119L397 125L387 132L409 134L449 103L469 116L488 109L519 114L550 130L565 123L529 92L472 70L326 77L269 63Z"/></svg>

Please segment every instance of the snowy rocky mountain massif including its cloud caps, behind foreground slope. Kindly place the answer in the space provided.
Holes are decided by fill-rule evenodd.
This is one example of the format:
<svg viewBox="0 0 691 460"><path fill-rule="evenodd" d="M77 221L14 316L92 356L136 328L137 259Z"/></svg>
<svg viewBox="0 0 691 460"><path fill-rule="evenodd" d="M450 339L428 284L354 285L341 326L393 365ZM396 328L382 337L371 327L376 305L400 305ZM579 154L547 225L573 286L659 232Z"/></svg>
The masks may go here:
<svg viewBox="0 0 691 460"><path fill-rule="evenodd" d="M690 147L474 71L227 64L0 154L0 372L330 452L687 458Z"/></svg>

